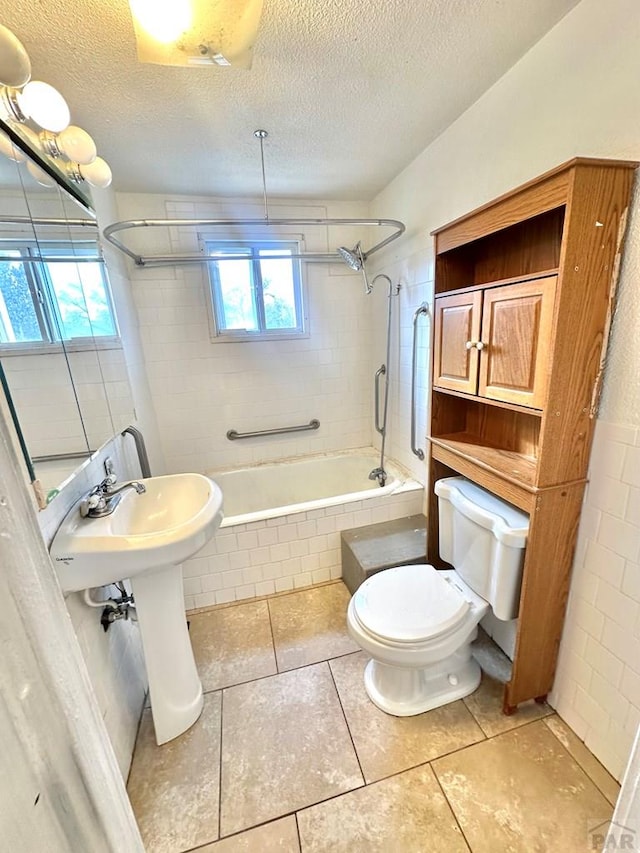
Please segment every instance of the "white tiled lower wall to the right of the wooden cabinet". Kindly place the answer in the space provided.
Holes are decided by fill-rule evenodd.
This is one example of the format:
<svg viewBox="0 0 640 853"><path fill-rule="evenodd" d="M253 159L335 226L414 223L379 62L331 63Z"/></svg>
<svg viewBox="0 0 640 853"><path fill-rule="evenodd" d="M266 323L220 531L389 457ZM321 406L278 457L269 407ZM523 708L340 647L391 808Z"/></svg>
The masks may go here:
<svg viewBox="0 0 640 853"><path fill-rule="evenodd" d="M640 722L640 429L598 421L551 704L607 769Z"/></svg>

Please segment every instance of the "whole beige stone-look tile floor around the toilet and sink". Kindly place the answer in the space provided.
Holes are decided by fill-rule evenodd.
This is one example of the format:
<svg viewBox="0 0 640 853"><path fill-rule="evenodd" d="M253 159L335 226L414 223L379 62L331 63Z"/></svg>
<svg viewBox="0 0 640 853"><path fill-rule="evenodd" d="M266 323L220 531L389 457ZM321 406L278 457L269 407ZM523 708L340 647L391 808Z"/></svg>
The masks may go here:
<svg viewBox="0 0 640 853"><path fill-rule="evenodd" d="M384 714L348 601L336 582L191 617L203 714L158 747L146 710L129 777L147 853L590 849L619 787L552 709L503 716L485 674L459 702Z"/></svg>

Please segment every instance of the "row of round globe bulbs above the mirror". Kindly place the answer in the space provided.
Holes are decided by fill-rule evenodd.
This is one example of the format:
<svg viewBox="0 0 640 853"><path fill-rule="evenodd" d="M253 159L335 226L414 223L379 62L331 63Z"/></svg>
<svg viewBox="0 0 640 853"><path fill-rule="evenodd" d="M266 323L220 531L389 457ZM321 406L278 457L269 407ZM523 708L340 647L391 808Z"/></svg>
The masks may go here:
<svg viewBox="0 0 640 853"><path fill-rule="evenodd" d="M188 0L182 0L188 3ZM7 133L15 132L38 155L55 161L73 181L87 181L94 187L108 187L111 169L96 157L96 144L81 127L70 125L67 102L57 89L40 80L31 80L31 62L19 39L0 25L0 120ZM29 126L37 125L37 132ZM0 134L0 152L16 162L24 156L11 139ZM69 162L64 162L69 161ZM30 174L44 186L53 180L38 165L27 165Z"/></svg>

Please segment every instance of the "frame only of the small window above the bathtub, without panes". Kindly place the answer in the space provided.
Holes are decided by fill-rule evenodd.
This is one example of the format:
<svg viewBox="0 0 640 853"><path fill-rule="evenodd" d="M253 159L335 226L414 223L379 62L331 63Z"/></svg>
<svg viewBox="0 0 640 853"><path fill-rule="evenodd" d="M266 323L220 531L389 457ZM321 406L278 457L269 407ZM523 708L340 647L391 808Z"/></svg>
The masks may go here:
<svg viewBox="0 0 640 853"><path fill-rule="evenodd" d="M274 239L273 237L247 237L245 239L238 238L220 238L217 235L207 234L199 235L203 252L207 257L207 308L209 313L209 325L211 330L212 343L246 343L247 341L284 341L284 340L299 340L309 337L308 329L308 314L306 310L307 295L306 282L303 275L303 267L299 257L301 254L301 238L282 236ZM251 262L251 282L252 302L258 325L257 329L226 329L222 327L219 318L224 318L224 303L220 291L220 280L217 270L216 258L212 257L212 252L216 249L237 250L238 256L245 256ZM293 299L294 310L296 314L297 325L287 329L267 329L264 306L264 290L262 281L262 270L260 261L270 260L267 257L260 257L260 251L271 250L282 252L290 251L292 257L291 274L293 279ZM220 258L224 260L224 258Z"/></svg>

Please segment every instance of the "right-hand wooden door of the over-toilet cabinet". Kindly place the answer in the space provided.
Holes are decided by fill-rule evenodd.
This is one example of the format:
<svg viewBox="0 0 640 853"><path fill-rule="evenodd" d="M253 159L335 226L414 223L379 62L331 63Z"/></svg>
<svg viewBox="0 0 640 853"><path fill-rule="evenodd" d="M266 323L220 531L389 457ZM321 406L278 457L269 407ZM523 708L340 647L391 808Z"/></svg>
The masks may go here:
<svg viewBox="0 0 640 853"><path fill-rule="evenodd" d="M541 409L556 276L485 291L478 394Z"/></svg>

